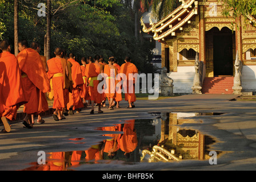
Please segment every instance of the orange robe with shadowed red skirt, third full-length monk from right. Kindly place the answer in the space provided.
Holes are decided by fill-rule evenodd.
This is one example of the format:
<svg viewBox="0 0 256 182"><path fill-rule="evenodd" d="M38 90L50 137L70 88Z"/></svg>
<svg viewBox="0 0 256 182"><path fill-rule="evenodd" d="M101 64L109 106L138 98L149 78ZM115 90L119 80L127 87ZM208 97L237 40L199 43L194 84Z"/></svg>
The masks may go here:
<svg viewBox="0 0 256 182"><path fill-rule="evenodd" d="M99 80L97 80L97 77L100 72L101 67L99 67L95 63L89 63L86 65L85 76L88 77L90 81L89 94L91 97L91 101L94 101L97 104L101 104L101 102L103 101L102 93L99 93L97 89L99 84Z"/></svg>

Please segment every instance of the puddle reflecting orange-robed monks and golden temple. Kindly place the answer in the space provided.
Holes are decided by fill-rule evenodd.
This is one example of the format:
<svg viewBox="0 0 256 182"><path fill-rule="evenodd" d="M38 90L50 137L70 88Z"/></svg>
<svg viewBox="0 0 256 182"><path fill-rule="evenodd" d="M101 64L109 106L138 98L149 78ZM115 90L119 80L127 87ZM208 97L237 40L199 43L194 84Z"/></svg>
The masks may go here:
<svg viewBox="0 0 256 182"><path fill-rule="evenodd" d="M113 126L98 127L104 132L102 142L85 151L51 152L46 164L34 163L24 170L62 171L77 165L122 162L177 162L187 159L207 160L213 138L200 131L182 127L200 124L200 115L222 113L150 113L154 119L133 119ZM196 117L196 118L193 118ZM83 143L85 138L70 139ZM217 152L219 154L219 152Z"/></svg>

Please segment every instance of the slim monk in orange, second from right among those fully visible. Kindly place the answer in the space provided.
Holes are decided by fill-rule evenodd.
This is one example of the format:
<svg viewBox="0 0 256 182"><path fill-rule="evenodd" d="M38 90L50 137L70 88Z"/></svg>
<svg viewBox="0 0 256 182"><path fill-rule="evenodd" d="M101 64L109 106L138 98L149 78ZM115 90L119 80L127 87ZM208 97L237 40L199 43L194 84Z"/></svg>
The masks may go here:
<svg viewBox="0 0 256 182"><path fill-rule="evenodd" d="M114 63L114 59L111 58L109 60L109 64L106 64L104 66L104 71L103 73L105 73L107 75L106 77L106 90L105 90L105 94L106 97L109 100L109 109L113 110L113 101L115 98L115 76L117 76L117 67L114 67L113 65Z"/></svg>

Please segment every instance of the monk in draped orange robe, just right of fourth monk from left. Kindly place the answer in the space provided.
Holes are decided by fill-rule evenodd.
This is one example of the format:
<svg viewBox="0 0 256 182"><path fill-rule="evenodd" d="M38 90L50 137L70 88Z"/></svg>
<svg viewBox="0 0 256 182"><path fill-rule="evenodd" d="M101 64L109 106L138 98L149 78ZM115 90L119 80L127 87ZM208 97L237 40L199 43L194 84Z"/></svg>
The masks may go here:
<svg viewBox="0 0 256 182"><path fill-rule="evenodd" d="M69 59L67 59L72 64L71 76L73 80L72 93L69 93L69 103L67 103L67 108L69 108L69 114L73 114L73 110L77 109L77 113L83 107L83 102L80 97L80 90L83 83L83 76L80 68L80 64L75 61L75 56L73 53L69 54Z"/></svg>

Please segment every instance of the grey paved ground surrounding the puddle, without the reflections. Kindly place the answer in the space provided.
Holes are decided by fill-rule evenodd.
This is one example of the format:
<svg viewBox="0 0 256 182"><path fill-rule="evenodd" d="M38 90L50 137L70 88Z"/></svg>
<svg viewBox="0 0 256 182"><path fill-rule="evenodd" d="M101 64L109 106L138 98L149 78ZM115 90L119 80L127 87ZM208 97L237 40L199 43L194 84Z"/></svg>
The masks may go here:
<svg viewBox="0 0 256 182"><path fill-rule="evenodd" d="M203 117L202 123L189 125L203 134L214 136L217 142L213 150L223 151L217 165L207 160L178 163L140 163L133 166L118 164L86 165L76 170L255 170L256 169L256 103L255 101L230 101L235 95L201 94L167 98L165 100L138 100L136 107L127 109L122 101L120 109L103 109L105 113L89 114L90 109L67 116L62 121L44 118L46 123L23 128L21 122L14 123L11 133L0 133L0 170L20 170L37 162L38 151L85 150L100 142L102 131L97 126L117 123L120 120L153 118L149 112L215 112L225 113L214 117ZM186 127L186 125L184 126ZM80 138L74 142L74 138ZM27 166L26 166L27 164Z"/></svg>

